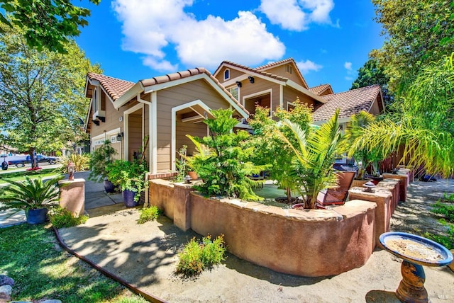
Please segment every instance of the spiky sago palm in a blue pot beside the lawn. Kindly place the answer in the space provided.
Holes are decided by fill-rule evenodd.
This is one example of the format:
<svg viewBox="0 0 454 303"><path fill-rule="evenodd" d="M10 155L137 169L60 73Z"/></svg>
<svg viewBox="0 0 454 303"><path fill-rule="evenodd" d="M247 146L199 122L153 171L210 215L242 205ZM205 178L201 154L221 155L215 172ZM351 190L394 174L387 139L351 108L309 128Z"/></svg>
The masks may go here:
<svg viewBox="0 0 454 303"><path fill-rule="evenodd" d="M63 177L60 175L44 182L40 177L35 179L26 177L22 182L4 179L9 185L1 189L0 210L11 208L25 210L29 224L45 222L50 208L58 206L60 198L58 181Z"/></svg>

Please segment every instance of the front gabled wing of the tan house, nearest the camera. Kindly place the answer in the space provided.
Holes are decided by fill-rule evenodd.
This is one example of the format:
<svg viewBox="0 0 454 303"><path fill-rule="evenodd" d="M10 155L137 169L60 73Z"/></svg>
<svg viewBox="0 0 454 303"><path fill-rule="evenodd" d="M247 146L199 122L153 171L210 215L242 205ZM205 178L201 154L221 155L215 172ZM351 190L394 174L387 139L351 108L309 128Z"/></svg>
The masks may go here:
<svg viewBox="0 0 454 303"><path fill-rule="evenodd" d="M90 98L86 130L91 149L109 139L121 159L145 154L151 178L175 171L177 150L189 144L187 134L208 135L201 123L211 109L231 108L238 119L249 113L206 69L157 76L132 83L89 73L85 96ZM141 150L143 149L143 150Z"/></svg>

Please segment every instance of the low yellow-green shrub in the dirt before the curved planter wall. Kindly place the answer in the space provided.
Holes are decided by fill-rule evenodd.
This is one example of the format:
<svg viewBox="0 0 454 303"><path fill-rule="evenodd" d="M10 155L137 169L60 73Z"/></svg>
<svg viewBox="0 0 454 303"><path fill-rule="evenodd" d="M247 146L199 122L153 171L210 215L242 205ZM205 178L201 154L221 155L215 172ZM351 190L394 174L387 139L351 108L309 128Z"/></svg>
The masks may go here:
<svg viewBox="0 0 454 303"><path fill-rule="evenodd" d="M221 263L225 259L226 247L223 235L211 240L211 236L204 237L201 242L195 237L189 241L178 254L177 273L185 277L199 275L205 268Z"/></svg>

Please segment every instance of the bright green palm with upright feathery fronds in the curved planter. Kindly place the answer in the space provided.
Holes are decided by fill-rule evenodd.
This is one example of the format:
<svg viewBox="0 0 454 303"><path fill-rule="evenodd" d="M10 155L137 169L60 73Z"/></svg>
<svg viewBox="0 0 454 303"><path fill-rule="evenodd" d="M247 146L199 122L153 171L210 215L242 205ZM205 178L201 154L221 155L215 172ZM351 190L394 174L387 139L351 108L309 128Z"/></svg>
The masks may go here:
<svg viewBox="0 0 454 303"><path fill-rule="evenodd" d="M292 130L294 142L297 142L292 144L293 140L288 135L279 132L293 151L293 175L299 183L304 208L314 209L319 191L336 186L333 164L336 154L341 153L342 139L338 115L339 110L336 110L331 120L317 130L302 130L297 123L282 120Z"/></svg>

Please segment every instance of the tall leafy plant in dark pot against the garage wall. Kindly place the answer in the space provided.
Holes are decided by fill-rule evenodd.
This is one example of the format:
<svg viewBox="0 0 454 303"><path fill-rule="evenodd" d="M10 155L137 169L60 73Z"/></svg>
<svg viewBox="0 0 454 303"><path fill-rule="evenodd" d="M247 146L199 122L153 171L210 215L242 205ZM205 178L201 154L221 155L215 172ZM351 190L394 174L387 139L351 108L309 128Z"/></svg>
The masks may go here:
<svg viewBox="0 0 454 303"><path fill-rule="evenodd" d="M113 156L115 154L116 149L111 146L109 140L106 140L101 147L92 152L90 158L90 168L92 171L90 171L88 178L91 181L104 182L106 193L114 193L116 190L115 185L107 178L106 173L106 167L114 161Z"/></svg>

